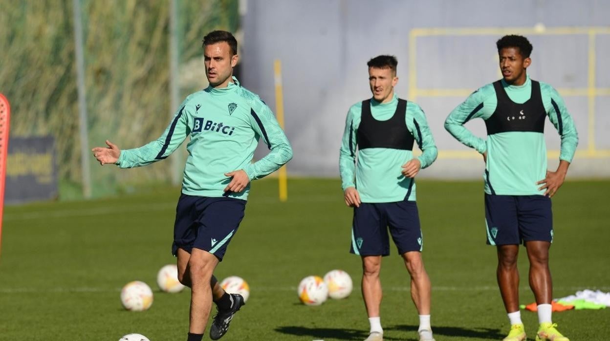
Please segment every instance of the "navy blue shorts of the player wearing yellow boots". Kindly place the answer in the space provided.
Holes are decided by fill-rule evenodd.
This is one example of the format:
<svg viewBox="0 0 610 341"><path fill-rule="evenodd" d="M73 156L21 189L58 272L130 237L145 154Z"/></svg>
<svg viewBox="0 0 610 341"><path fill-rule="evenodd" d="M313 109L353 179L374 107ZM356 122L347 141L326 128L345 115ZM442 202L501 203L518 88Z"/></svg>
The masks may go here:
<svg viewBox="0 0 610 341"><path fill-rule="evenodd" d="M485 194L487 244L553 242L551 198L544 195Z"/></svg>

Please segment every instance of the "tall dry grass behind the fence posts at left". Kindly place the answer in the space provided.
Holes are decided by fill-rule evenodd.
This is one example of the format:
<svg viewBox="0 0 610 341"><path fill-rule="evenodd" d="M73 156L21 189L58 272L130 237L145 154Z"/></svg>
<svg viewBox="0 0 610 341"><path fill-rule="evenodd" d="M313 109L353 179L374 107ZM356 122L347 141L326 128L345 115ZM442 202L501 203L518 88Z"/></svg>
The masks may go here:
<svg viewBox="0 0 610 341"><path fill-rule="evenodd" d="M60 182L81 182L81 148L106 138L134 148L167 126L169 6L168 0L81 0L89 132L89 145L81 146L72 0L0 0L0 92L11 102L10 134L54 136ZM237 0L178 0L178 8L184 68L198 65L193 60L201 58L207 32L237 30ZM193 73L199 72L181 70L184 77ZM199 87L205 85L203 77ZM196 87L183 86L181 96ZM113 184L169 181L171 174L169 162L137 172L91 168L98 194Z"/></svg>

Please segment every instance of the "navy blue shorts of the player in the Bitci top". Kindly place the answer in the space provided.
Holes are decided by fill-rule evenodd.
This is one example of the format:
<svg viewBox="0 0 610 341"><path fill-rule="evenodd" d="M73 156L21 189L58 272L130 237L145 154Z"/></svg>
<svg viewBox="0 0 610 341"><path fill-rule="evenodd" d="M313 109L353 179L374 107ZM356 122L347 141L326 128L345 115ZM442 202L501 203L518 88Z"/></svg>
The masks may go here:
<svg viewBox="0 0 610 341"><path fill-rule="evenodd" d="M171 253L176 256L179 248L188 253L193 248L198 248L222 261L227 246L243 219L245 208L246 201L242 199L182 193L176 206Z"/></svg>

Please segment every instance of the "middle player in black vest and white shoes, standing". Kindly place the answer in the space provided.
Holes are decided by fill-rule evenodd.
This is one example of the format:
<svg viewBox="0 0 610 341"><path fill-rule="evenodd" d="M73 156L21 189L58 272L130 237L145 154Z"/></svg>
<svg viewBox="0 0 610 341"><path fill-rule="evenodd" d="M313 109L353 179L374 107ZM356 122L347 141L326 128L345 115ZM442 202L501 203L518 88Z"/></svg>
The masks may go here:
<svg viewBox="0 0 610 341"><path fill-rule="evenodd" d="M383 340L379 271L381 257L390 254L388 226L411 275L419 339L432 341L430 279L422 261L415 176L436 160L437 149L422 109L394 94L397 64L393 56L368 61L373 98L357 102L348 111L339 170L345 204L354 207L351 253L362 259L362 296L370 322L366 341ZM415 141L423 151L418 157L412 153Z"/></svg>

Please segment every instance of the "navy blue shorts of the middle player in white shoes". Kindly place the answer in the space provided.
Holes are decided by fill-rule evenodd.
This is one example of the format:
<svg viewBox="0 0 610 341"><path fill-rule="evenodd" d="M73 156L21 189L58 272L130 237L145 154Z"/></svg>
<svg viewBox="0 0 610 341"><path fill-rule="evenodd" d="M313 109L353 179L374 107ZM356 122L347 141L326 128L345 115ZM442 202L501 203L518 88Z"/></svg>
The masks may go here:
<svg viewBox="0 0 610 341"><path fill-rule="evenodd" d="M390 239L398 253L422 251L423 235L415 201L361 203L354 207L350 252L360 256L387 256Z"/></svg>

